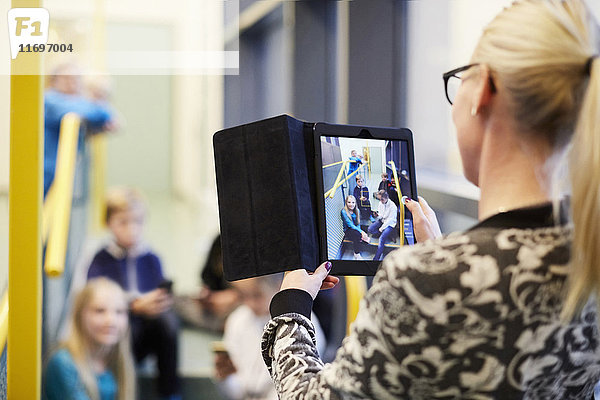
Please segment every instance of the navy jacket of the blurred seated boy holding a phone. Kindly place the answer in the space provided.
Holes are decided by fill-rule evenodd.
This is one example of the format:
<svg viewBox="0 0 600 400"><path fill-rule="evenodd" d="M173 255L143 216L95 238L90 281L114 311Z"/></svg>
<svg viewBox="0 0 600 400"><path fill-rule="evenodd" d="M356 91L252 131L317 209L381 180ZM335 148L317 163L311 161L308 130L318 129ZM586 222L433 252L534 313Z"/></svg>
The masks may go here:
<svg viewBox="0 0 600 400"><path fill-rule="evenodd" d="M88 270L88 279L103 276L117 282L126 292L146 293L154 290L164 280L159 258L149 250L129 257L135 264L137 285L131 285L127 271L128 257L126 252L111 244L100 250L92 260ZM136 287L137 286L137 287Z"/></svg>

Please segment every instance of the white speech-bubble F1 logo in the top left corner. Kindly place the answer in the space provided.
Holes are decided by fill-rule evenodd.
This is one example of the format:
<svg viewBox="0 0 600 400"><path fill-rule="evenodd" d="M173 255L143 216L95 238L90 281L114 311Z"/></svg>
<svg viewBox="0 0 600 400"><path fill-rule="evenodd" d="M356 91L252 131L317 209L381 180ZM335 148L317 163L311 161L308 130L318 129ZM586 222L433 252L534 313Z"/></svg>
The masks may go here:
<svg viewBox="0 0 600 400"><path fill-rule="evenodd" d="M46 44L50 14L45 8L12 8L8 11L10 55L14 60L25 45Z"/></svg>

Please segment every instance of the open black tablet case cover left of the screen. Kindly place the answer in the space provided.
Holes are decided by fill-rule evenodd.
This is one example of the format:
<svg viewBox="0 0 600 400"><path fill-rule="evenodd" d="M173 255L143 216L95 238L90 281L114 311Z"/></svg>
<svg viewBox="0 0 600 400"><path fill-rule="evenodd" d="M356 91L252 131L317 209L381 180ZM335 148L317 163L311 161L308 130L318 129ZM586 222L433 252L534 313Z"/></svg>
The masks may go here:
<svg viewBox="0 0 600 400"><path fill-rule="evenodd" d="M215 133L225 279L318 266L313 125L281 115Z"/></svg>

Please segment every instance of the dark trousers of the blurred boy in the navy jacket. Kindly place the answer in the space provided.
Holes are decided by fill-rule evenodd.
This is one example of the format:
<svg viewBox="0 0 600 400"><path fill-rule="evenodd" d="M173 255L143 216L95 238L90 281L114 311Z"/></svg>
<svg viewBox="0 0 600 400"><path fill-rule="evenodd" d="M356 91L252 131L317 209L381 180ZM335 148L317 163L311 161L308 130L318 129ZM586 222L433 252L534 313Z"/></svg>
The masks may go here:
<svg viewBox="0 0 600 400"><path fill-rule="evenodd" d="M177 374L179 322L170 310L156 318L132 316L131 345L135 361L139 363L150 354L156 355L158 366L158 393L169 396L180 392Z"/></svg>

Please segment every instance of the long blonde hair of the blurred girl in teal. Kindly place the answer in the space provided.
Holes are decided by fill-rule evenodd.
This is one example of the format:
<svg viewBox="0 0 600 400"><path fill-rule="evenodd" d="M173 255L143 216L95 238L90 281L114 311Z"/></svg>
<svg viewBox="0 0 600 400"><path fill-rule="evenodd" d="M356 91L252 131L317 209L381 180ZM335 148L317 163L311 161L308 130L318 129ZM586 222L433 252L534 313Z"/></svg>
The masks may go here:
<svg viewBox="0 0 600 400"><path fill-rule="evenodd" d="M126 302L125 293L115 282L107 278L91 279L75 298L71 316L71 334L62 345L73 357L79 377L91 400L99 400L100 394L90 362L89 341L83 328L83 312L101 288L110 288L120 293L123 301ZM117 345L110 350L107 357L107 368L113 372L117 380L118 400L135 398L135 373L131 357L129 329L124 332Z"/></svg>

